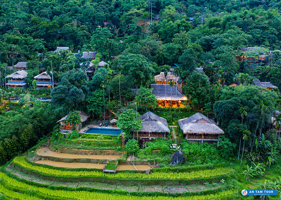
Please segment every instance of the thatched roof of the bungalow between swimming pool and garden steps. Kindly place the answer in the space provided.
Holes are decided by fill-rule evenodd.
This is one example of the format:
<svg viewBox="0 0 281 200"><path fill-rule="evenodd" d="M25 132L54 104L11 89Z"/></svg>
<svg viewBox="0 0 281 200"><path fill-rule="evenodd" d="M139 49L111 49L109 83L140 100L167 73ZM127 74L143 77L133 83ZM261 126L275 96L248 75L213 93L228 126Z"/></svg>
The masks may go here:
<svg viewBox="0 0 281 200"><path fill-rule="evenodd" d="M141 116L142 126L138 132L143 133L170 133L167 120L161 118L150 111Z"/></svg>

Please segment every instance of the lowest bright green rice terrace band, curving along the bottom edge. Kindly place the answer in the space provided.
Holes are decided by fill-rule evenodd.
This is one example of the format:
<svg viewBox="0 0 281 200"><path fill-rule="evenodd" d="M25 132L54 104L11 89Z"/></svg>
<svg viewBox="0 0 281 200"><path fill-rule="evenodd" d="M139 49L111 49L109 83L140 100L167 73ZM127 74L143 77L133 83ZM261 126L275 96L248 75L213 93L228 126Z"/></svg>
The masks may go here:
<svg viewBox="0 0 281 200"><path fill-rule="evenodd" d="M57 190L58 189L58 190ZM111 194L111 193L104 193L104 191L102 193L100 192L92 192L92 191L65 191L62 189L71 189L71 188L55 188L52 186L46 188L46 187L42 187L42 186L35 186L35 185L29 185L27 183L23 183L20 182L18 180L15 180L9 176L7 176L4 173L0 173L0 192L3 193L4 195L7 195L7 197L14 197L11 196L11 194L14 192L20 192L20 194L27 194L30 198L25 198L25 199L69 199L71 197L74 197L76 199L93 199L93 197L96 197L97 199L107 199L107 200L111 200L111 199L123 199L123 200L134 200L134 199L140 199L140 200L152 200L155 199L155 197L150 197L150 196L145 196L145 197L141 197L141 196L128 196L128 194L126 192L122 192L123 194ZM74 189L74 188L72 188ZM113 191L112 191L113 192ZM116 191L114 191L115 193ZM189 193L185 193L185 194L181 194L178 197L175 197L173 194L170 194L169 196L158 196L157 199L198 199L198 200L203 200L203 199L219 199L219 198L224 198L224 199L231 199L233 198L233 194L237 193L237 191L234 190L227 190L227 191L217 191L218 193L216 194L207 194L204 196L190 196ZM153 192L155 193L155 192ZM157 192L156 192L157 193ZM155 193L155 194L156 194ZM37 196L37 197L34 197ZM190 197L189 197L190 196ZM39 198L38 198L39 197Z"/></svg>

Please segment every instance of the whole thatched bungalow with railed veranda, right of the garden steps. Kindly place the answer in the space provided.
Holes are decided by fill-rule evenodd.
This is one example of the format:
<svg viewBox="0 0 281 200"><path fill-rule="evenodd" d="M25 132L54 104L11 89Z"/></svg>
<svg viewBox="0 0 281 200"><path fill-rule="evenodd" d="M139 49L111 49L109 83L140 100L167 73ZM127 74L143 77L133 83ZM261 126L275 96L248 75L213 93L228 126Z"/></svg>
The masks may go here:
<svg viewBox="0 0 281 200"><path fill-rule="evenodd" d="M201 113L196 113L189 118L178 121L180 129L191 142L219 142L219 135L224 131L211 119Z"/></svg>

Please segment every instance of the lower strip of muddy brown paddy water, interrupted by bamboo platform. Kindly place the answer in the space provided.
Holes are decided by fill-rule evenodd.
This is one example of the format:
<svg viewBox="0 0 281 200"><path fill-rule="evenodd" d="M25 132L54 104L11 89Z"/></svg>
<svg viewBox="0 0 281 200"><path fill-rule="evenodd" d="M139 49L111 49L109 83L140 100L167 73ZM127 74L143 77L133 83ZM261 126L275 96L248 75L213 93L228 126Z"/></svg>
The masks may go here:
<svg viewBox="0 0 281 200"><path fill-rule="evenodd" d="M45 164L51 165L54 167L60 168L88 168L88 169L103 169L103 164L96 164L96 163L63 163L63 162L56 162L52 160L38 160L35 163L38 164ZM135 165L137 170L146 171L151 169L148 165ZM116 170L136 170L133 165L118 165Z"/></svg>

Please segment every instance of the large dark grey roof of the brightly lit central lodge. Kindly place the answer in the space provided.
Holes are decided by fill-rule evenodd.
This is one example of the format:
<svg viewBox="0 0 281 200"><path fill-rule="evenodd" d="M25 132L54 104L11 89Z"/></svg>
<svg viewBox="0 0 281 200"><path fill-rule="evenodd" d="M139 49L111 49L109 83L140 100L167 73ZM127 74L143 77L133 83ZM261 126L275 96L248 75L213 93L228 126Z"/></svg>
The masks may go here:
<svg viewBox="0 0 281 200"><path fill-rule="evenodd" d="M155 95L157 100L165 100L165 87L166 87L166 100L171 100L170 85L168 85L168 84L166 84L166 85L165 84L151 84L150 87L153 88L152 94ZM176 95L176 90L177 90L177 95ZM177 89L177 85L175 84L172 87L172 100L175 100L176 97L177 97L177 100L180 100L180 101L187 100L185 95Z"/></svg>

